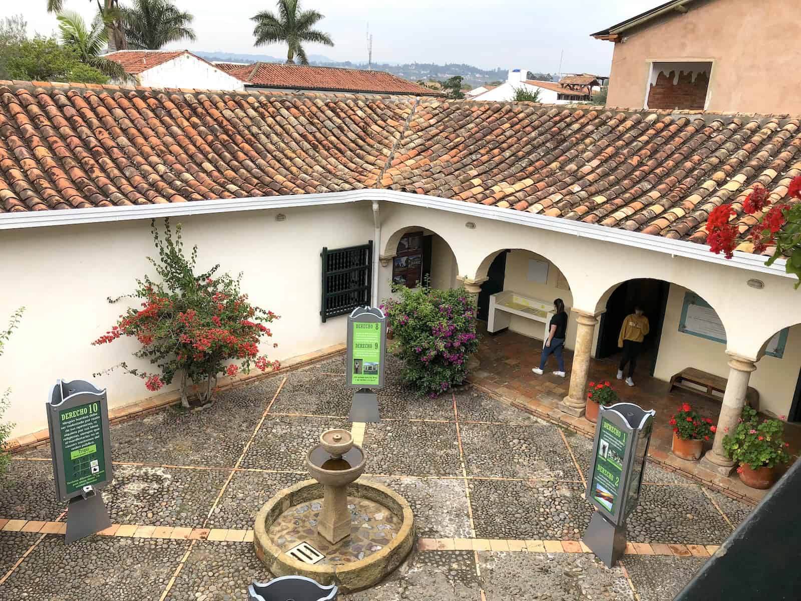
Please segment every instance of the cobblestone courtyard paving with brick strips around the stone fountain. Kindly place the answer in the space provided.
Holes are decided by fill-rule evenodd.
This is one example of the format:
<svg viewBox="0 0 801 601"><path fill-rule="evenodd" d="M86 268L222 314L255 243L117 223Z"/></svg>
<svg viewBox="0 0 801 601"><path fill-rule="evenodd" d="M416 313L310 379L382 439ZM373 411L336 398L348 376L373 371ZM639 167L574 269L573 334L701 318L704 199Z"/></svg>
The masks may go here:
<svg viewBox="0 0 801 601"><path fill-rule="evenodd" d="M579 539L591 442L477 389L416 397L390 361L383 421L367 424L363 478L413 506L417 546L396 574L344 601L673 599L751 510L656 466L607 569ZM350 428L342 357L111 427L114 526L66 547L49 450L17 455L0 492L0 599L246 599L271 575L256 511L308 478L323 430Z"/></svg>

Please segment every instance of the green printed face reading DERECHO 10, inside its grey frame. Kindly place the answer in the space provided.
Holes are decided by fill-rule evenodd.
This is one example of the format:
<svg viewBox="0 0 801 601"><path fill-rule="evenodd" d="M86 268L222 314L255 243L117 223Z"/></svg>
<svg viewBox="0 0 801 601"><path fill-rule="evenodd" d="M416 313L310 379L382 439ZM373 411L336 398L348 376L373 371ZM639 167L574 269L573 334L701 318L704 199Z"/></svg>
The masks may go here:
<svg viewBox="0 0 801 601"><path fill-rule="evenodd" d="M66 494L106 480L103 418L93 401L58 412Z"/></svg>

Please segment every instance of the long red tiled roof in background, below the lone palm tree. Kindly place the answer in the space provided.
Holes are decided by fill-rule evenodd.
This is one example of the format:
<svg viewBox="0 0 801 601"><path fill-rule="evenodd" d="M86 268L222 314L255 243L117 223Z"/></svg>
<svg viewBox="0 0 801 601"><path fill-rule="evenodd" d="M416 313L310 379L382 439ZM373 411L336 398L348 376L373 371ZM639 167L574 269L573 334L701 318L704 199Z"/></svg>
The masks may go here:
<svg viewBox="0 0 801 601"><path fill-rule="evenodd" d="M366 92L372 94L416 94L441 96L386 71L344 69L341 67L312 67L286 63L215 63L215 67L244 79L252 86L286 88L289 90L324 90Z"/></svg>

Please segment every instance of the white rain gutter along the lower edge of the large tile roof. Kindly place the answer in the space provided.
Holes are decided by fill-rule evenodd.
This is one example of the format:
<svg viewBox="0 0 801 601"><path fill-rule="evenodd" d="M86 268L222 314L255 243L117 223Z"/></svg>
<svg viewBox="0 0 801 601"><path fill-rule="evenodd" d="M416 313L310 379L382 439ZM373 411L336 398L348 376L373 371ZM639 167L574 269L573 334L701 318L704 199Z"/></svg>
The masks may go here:
<svg viewBox="0 0 801 601"><path fill-rule="evenodd" d="M623 246L642 248L651 252L661 252L670 256L683 256L706 263L725 265L752 272L769 273L774 276L791 277L784 270L785 260L779 259L768 267L765 257L747 252L735 252L732 259L715 255L706 244L696 244L686 240L671 240L662 236L629 232L618 228L606 228L580 221L536 215L525 211L503 209L484 204L466 203L462 200L449 200L436 196L425 196L413 192L372 189L348 192L324 192L321 194L301 194L289 196L258 196L229 200L199 200L187 203L142 204L127 207L80 208L52 211L30 211L0 213L0 230L18 228L39 228L50 225L95 224L109 221L156 219L161 217L185 215L213 215L215 213L262 211L265 209L325 206L333 204L356 203L363 200L384 200L396 204L409 204L413 207L432 208L437 211L459 213L479 219L503 221L509 224L525 225L529 228L545 229L570 236L602 240ZM376 252L380 252L376 244Z"/></svg>

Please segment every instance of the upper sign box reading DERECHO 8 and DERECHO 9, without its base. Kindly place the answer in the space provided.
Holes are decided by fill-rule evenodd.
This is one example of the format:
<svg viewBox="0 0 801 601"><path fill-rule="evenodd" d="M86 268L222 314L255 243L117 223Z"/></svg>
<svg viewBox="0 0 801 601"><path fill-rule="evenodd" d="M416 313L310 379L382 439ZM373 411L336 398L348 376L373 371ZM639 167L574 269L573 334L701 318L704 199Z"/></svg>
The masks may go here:
<svg viewBox="0 0 801 601"><path fill-rule="evenodd" d="M348 316L347 384L384 387L387 320L381 309L357 307Z"/></svg>

